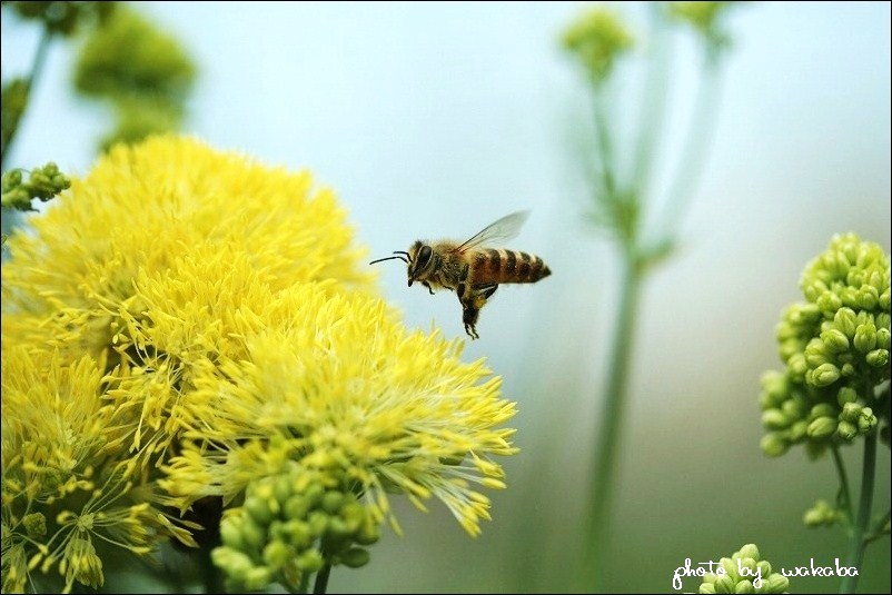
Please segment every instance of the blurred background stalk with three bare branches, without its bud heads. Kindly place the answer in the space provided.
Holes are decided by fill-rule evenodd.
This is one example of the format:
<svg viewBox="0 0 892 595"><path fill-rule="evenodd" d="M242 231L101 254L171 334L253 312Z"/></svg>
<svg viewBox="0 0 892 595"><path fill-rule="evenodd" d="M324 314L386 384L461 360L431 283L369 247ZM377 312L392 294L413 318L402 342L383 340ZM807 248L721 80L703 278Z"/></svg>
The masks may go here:
<svg viewBox="0 0 892 595"><path fill-rule="evenodd" d="M704 44L700 86L691 112L690 127L683 141L667 198L662 212L654 218L655 231L645 239L644 215L651 173L657 157L664 113L666 112L666 73L672 52L663 42L664 16L658 6L652 11L654 50L644 87L642 115L635 152L634 177L626 186L618 180L613 155L614 139L606 115L606 97L599 83L593 86L594 123L601 171L594 200L606 211L606 224L622 254L622 284L608 355L607 378L598 417L597 447L589 469L592 507L586 522L584 571L581 578L586 591L602 592L608 567L609 532L613 496L616 485L616 453L622 440L632 354L635 347L635 323L640 317L641 294L646 274L675 246L675 235L690 205L696 182L705 165L708 142L715 129L718 107L718 73L722 52Z"/></svg>

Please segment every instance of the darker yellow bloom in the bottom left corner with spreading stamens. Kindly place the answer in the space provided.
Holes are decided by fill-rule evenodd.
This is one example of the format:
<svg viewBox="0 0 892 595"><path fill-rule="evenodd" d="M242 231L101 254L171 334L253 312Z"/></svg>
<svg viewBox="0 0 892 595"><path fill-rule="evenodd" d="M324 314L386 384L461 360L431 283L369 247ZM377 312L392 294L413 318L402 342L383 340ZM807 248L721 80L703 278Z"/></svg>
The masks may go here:
<svg viewBox="0 0 892 595"><path fill-rule="evenodd" d="M95 539L136 554L171 533L191 543L150 504L151 484L119 448L101 367L3 343L4 593L23 592L38 567L58 567L66 592L75 581L101 585Z"/></svg>

